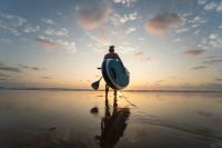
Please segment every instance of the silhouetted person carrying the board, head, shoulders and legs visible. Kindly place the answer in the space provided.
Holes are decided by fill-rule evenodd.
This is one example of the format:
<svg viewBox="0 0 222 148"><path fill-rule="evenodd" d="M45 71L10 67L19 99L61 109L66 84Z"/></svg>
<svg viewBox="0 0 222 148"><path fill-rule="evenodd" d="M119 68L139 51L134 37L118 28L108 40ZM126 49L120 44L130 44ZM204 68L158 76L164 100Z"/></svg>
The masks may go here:
<svg viewBox="0 0 222 148"><path fill-rule="evenodd" d="M118 60L122 65L122 67L124 67L123 63L122 63L122 60L119 57L119 55L114 52L114 46L110 46L109 53L107 53L104 56L103 60L107 60L107 59ZM105 95L108 95L108 92L109 92L109 85L105 83ZM114 89L114 95L117 95L117 89Z"/></svg>

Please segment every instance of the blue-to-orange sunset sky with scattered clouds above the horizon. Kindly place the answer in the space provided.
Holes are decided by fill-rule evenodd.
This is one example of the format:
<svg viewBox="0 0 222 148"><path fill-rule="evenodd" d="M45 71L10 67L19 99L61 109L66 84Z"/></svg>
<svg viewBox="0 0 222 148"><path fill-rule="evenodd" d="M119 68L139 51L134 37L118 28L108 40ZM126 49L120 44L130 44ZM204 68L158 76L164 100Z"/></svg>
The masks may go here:
<svg viewBox="0 0 222 148"><path fill-rule="evenodd" d="M114 45L127 89L222 90L221 0L0 3L1 87L90 89Z"/></svg>

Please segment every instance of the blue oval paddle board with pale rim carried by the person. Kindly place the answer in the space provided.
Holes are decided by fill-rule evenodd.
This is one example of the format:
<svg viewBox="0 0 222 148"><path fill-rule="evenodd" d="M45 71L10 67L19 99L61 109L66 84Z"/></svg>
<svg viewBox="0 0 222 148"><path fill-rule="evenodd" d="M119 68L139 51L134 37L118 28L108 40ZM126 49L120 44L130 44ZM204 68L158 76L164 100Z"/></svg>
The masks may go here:
<svg viewBox="0 0 222 148"><path fill-rule="evenodd" d="M102 62L102 77L112 89L123 89L129 85L129 71L114 59Z"/></svg>

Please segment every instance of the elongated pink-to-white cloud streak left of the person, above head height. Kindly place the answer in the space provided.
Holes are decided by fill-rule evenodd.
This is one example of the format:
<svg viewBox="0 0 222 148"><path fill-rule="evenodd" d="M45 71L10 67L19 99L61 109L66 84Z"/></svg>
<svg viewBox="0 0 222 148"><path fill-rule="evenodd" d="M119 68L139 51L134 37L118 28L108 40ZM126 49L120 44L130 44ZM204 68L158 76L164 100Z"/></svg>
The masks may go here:
<svg viewBox="0 0 222 148"><path fill-rule="evenodd" d="M41 43L44 48L52 48L52 49L64 49L70 53L74 53L77 51L75 43L62 40L53 40L50 38L46 38L43 36L37 37L36 41Z"/></svg>

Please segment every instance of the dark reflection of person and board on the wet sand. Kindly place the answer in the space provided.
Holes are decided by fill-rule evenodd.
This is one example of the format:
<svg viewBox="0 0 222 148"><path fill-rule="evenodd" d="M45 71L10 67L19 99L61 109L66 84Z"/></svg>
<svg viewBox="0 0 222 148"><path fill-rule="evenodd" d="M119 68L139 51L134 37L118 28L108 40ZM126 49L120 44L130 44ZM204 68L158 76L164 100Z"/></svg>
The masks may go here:
<svg viewBox="0 0 222 148"><path fill-rule="evenodd" d="M105 96L105 112L101 119L101 136L95 138L100 140L102 148L112 148L123 136L123 131L127 128L127 119L130 116L129 108L118 108L117 95L113 100L113 111L111 114L109 100Z"/></svg>

